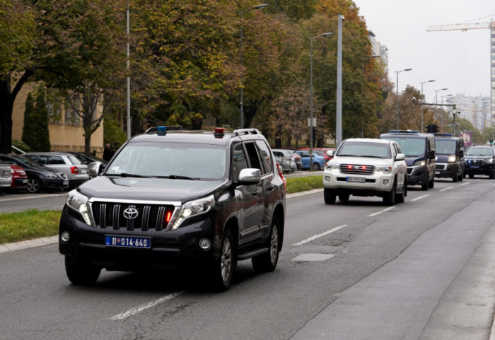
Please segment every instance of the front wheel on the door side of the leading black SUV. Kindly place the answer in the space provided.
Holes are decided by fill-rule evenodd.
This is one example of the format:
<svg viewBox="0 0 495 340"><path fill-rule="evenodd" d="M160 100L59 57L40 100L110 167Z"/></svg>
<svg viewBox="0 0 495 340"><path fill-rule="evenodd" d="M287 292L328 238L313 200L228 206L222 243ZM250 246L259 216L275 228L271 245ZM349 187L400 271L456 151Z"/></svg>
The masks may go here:
<svg viewBox="0 0 495 340"><path fill-rule="evenodd" d="M214 291L227 291L231 286L237 262L235 243L230 229L226 229L221 243L220 257L211 269L211 288Z"/></svg>

